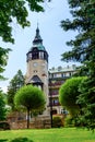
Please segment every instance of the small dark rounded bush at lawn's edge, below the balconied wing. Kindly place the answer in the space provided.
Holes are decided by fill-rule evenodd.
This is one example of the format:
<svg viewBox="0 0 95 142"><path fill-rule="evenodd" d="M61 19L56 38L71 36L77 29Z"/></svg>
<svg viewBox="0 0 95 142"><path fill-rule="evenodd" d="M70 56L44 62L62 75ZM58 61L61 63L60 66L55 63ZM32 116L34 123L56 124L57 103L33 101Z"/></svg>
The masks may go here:
<svg viewBox="0 0 95 142"><path fill-rule="evenodd" d="M60 128L63 127L62 119L60 117L52 118L52 128Z"/></svg>

